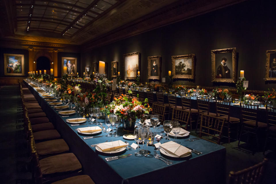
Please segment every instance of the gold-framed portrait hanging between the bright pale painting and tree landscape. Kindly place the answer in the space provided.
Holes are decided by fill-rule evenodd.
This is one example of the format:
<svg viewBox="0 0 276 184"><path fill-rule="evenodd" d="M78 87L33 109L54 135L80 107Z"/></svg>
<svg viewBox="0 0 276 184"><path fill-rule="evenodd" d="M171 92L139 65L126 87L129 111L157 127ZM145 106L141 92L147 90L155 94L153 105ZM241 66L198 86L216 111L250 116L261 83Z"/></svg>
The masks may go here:
<svg viewBox="0 0 276 184"><path fill-rule="evenodd" d="M158 79L161 76L161 56L147 57L147 79Z"/></svg>

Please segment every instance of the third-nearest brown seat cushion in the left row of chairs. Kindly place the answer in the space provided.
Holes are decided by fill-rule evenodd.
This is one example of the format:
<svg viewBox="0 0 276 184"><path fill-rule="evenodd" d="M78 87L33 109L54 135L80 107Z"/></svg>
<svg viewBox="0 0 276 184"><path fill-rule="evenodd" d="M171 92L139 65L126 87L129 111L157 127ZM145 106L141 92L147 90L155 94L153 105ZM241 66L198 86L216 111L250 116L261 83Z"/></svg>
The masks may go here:
<svg viewBox="0 0 276 184"><path fill-rule="evenodd" d="M68 152L69 147L63 139L55 139L35 144L39 155L49 155Z"/></svg>

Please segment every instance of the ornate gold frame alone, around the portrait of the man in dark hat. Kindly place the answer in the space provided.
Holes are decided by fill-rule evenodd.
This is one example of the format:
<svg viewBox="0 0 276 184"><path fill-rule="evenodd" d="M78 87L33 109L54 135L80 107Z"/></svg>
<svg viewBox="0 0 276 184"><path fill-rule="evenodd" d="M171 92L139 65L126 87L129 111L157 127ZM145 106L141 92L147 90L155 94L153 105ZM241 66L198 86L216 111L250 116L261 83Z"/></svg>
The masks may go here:
<svg viewBox="0 0 276 184"><path fill-rule="evenodd" d="M216 54L218 53L232 53L232 78L216 78ZM212 59L212 82L224 82L224 83L235 83L236 82L236 47L228 49L217 49L211 50Z"/></svg>

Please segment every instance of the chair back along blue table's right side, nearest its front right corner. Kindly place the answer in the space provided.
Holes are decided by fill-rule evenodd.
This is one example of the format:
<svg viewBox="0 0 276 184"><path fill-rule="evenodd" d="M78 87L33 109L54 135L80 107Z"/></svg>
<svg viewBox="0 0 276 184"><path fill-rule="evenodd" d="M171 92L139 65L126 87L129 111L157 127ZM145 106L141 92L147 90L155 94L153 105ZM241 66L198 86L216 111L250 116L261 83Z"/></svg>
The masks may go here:
<svg viewBox="0 0 276 184"><path fill-rule="evenodd" d="M224 122L225 118L219 118L202 114L199 137L207 141L220 144ZM206 139L202 137L202 135L212 136L216 138L217 141L215 141L215 139Z"/></svg>

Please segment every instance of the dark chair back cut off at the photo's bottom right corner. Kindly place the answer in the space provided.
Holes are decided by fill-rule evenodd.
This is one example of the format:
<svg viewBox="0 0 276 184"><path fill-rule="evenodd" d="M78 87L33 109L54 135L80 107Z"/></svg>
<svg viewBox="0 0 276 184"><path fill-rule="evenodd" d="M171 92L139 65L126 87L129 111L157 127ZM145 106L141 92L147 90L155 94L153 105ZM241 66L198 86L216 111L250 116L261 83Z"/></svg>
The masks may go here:
<svg viewBox="0 0 276 184"><path fill-rule="evenodd" d="M252 167L229 173L229 184L260 184L267 167L268 159L264 160Z"/></svg>

